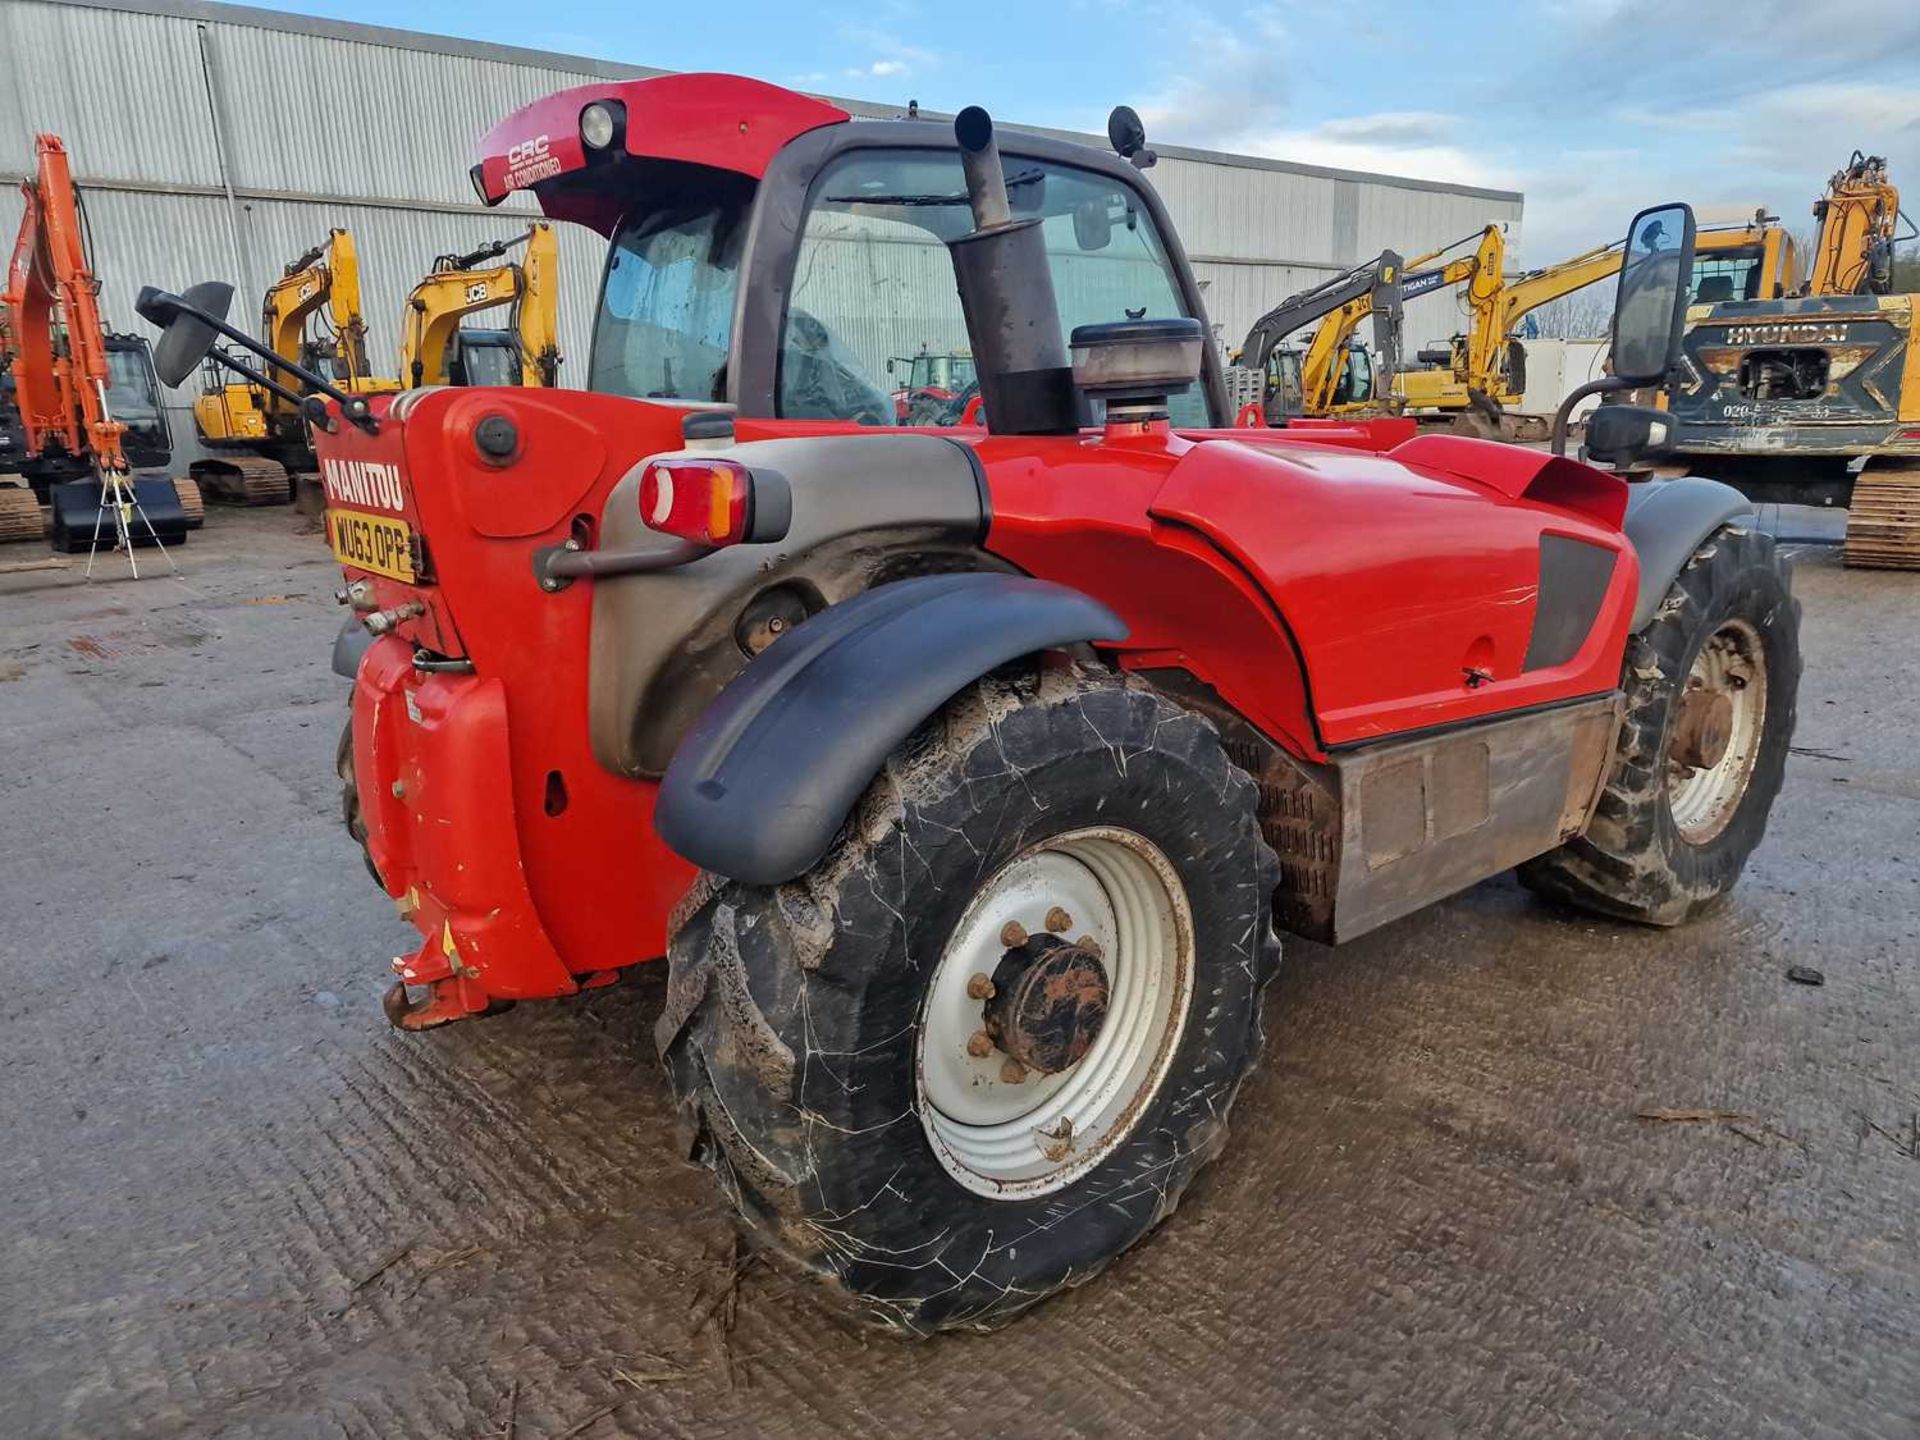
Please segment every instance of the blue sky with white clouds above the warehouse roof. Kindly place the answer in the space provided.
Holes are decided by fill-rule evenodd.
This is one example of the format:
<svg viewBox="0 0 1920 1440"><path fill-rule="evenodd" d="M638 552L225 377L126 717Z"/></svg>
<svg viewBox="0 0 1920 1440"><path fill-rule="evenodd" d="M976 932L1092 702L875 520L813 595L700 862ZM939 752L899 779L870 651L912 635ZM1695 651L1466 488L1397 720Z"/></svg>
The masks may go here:
<svg viewBox="0 0 1920 1440"><path fill-rule="evenodd" d="M1523 190L1528 267L1668 200L1703 223L1764 205L1811 232L1855 148L1887 156L1920 202L1916 0L282 8L1096 134L1131 104L1148 142Z"/></svg>

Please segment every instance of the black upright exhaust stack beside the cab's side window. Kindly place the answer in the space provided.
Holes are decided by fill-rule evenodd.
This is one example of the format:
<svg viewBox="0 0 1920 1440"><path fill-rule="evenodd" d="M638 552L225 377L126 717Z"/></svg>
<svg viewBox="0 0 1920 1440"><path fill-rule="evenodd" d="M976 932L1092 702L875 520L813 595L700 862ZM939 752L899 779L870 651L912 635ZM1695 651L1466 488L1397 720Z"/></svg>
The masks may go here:
<svg viewBox="0 0 1920 1440"><path fill-rule="evenodd" d="M1085 405L1060 334L1041 221L1014 219L1000 146L985 109L962 109L954 117L954 138L973 232L948 242L948 250L987 430L996 436L1073 434L1083 424Z"/></svg>

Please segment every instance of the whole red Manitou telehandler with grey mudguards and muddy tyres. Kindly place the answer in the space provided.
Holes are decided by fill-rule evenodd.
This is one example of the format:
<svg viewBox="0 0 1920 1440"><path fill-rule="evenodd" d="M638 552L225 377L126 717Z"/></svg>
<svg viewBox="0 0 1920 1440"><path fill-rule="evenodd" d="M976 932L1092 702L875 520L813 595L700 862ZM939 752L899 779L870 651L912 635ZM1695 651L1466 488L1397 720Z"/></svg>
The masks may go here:
<svg viewBox="0 0 1920 1440"><path fill-rule="evenodd" d="M296 376L353 611L348 822L422 937L392 1020L664 956L693 1154L906 1332L1000 1323L1173 1210L1277 927L1515 866L1678 924L1736 883L1793 728L1799 611L1738 493L1231 428L1116 132L566 90L474 184L609 236L591 388ZM1619 388L1676 353L1692 215L1634 234L1667 238L1622 267ZM163 374L244 342L217 292L142 298ZM927 336L985 428L897 424L885 359ZM1665 424L1603 407L1590 453Z"/></svg>

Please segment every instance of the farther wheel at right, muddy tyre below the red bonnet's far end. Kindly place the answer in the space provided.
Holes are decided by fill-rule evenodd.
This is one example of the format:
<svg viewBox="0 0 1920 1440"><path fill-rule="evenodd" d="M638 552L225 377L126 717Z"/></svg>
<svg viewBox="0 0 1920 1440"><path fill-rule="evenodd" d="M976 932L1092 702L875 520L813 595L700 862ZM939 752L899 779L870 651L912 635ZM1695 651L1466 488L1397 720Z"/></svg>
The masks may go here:
<svg viewBox="0 0 1920 1440"><path fill-rule="evenodd" d="M1718 530L1628 641L1626 716L1594 822L1521 881L1649 925L1724 897L1780 793L1799 674L1799 601L1772 538Z"/></svg>

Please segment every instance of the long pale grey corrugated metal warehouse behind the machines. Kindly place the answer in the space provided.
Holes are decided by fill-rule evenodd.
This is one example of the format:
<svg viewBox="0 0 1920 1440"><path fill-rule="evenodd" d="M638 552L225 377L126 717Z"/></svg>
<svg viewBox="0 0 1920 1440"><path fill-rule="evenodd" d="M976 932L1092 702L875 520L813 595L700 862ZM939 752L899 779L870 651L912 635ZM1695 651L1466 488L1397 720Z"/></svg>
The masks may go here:
<svg viewBox="0 0 1920 1440"><path fill-rule="evenodd" d="M202 0L6 0L0 67L0 179L10 182L0 232L19 223L13 182L33 165L35 132L63 136L109 323L138 326L132 296L142 284L205 278L232 280L236 319L250 319L288 259L346 225L376 369L388 371L401 296L432 257L516 234L534 211L518 196L497 211L474 202L474 140L551 90L659 73ZM1413 255L1521 217L1521 196L1503 190L1156 150L1150 179L1229 346L1283 296L1386 246ZM584 384L603 242L572 227L559 232L561 348L570 357L561 374ZM1413 301L1409 349L1452 334L1457 315L1452 296ZM179 413L190 396L171 405ZM177 442L192 434L182 420Z"/></svg>

